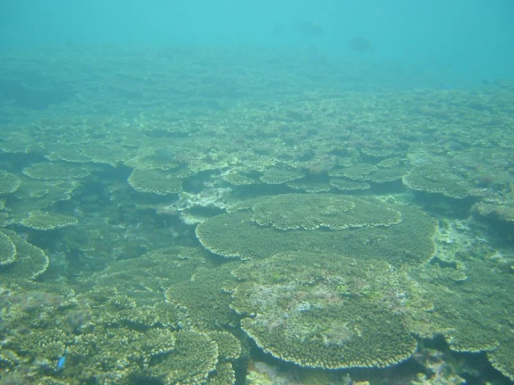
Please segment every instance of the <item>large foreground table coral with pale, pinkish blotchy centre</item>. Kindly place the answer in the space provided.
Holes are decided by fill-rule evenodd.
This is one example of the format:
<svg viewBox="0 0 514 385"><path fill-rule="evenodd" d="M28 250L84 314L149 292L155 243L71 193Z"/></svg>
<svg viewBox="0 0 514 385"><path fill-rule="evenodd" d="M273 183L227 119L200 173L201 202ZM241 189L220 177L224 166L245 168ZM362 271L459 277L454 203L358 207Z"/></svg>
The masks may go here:
<svg viewBox="0 0 514 385"><path fill-rule="evenodd" d="M315 368L385 367L417 343L399 300L408 282L383 262L289 252L234 270L232 307L265 352Z"/></svg>

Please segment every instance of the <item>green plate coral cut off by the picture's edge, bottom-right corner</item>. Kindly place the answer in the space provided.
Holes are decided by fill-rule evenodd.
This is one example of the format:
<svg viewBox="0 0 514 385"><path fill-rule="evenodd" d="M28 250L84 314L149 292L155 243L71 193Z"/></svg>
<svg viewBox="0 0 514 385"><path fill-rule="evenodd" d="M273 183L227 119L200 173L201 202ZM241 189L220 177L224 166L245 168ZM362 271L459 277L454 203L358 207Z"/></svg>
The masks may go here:
<svg viewBox="0 0 514 385"><path fill-rule="evenodd" d="M451 350L488 352L493 365L509 376L513 370L506 357L514 357L509 333L514 318L510 295L514 277L488 264L465 261L464 280L454 279L453 268L428 265L412 270L410 275L430 293L433 309L428 318L413 320L411 329L420 335L426 330L441 334Z"/></svg>

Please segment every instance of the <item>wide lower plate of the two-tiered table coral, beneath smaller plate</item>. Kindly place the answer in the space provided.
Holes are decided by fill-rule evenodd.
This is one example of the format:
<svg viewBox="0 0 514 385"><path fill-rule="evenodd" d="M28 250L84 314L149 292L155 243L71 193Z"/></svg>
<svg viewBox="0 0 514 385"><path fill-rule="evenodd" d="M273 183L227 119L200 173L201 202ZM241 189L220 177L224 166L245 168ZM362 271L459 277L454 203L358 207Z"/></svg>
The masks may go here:
<svg viewBox="0 0 514 385"><path fill-rule="evenodd" d="M196 236L209 251L241 259L264 258L285 251L338 252L355 259L383 259L396 265L431 259L435 252L435 220L412 206L385 207L399 211L401 222L330 231L282 231L257 224L251 211L236 211L205 220L196 228Z"/></svg>

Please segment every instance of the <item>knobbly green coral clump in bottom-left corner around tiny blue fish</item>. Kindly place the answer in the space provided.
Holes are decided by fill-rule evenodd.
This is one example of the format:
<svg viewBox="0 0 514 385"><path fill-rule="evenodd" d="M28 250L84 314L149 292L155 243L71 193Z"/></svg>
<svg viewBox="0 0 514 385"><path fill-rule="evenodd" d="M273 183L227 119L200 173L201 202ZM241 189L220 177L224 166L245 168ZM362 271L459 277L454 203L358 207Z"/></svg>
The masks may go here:
<svg viewBox="0 0 514 385"><path fill-rule="evenodd" d="M129 384L134 377L163 384L204 384L218 363L230 363L241 352L232 334L166 322L185 318L162 295L160 302L145 305L139 303L144 299L119 293L115 286L72 297L61 292L34 283L19 293L6 293L14 302L3 313L1 331L8 338L0 357L13 370L20 361L33 362L30 370L71 384ZM58 370L65 350L65 370ZM219 368L219 375L231 377L221 371L225 365ZM35 372L32 375L39 378Z"/></svg>

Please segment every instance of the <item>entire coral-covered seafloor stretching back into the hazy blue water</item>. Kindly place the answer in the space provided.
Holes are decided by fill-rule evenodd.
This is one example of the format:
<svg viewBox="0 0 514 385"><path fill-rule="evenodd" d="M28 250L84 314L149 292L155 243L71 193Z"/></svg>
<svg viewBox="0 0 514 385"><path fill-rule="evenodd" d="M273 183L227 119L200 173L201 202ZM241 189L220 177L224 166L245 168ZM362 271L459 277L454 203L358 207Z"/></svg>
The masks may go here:
<svg viewBox="0 0 514 385"><path fill-rule="evenodd" d="M0 55L1 385L512 384L512 83Z"/></svg>

